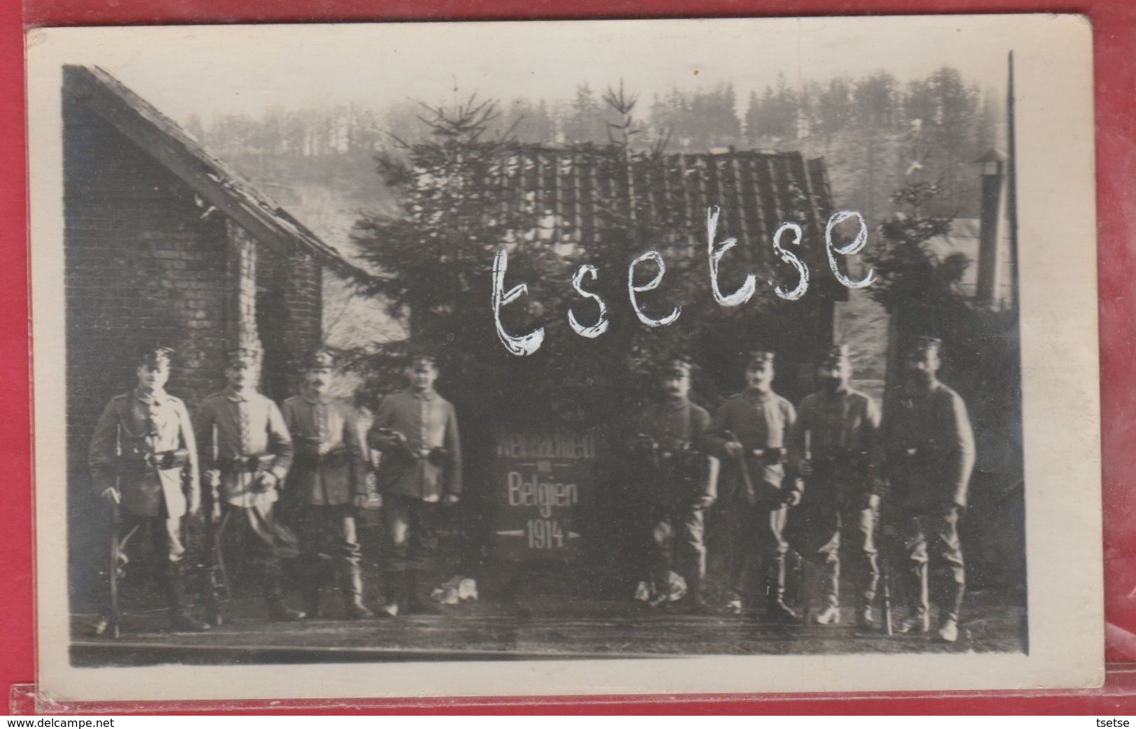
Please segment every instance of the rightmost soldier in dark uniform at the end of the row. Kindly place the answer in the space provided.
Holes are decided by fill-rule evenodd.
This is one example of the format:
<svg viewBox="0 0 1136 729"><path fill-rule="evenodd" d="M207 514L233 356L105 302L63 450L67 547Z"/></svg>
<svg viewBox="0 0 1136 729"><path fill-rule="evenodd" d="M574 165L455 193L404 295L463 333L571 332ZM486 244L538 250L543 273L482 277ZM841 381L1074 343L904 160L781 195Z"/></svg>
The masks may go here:
<svg viewBox="0 0 1136 729"><path fill-rule="evenodd" d="M939 346L939 340L920 337L905 353L905 382L888 402L883 449L892 487L886 519L902 542L911 581L911 608L900 631L930 628L930 567L938 637L953 643L966 593L959 518L975 466L975 436L962 397L938 382Z"/></svg>

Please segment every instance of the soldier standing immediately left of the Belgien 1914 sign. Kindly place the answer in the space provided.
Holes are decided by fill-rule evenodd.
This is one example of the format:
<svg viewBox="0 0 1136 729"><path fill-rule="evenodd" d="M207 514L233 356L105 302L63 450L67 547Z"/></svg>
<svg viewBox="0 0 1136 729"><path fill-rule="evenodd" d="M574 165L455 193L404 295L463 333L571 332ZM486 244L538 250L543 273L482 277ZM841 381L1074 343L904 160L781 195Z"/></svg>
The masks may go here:
<svg viewBox="0 0 1136 729"><path fill-rule="evenodd" d="M436 612L428 578L437 539L434 520L438 503L461 498L461 441L458 416L434 389L437 362L425 353L410 358L410 386L387 395L378 405L370 445L379 451L378 487L383 496L386 544L383 583L386 604L381 615L408 609Z"/></svg>

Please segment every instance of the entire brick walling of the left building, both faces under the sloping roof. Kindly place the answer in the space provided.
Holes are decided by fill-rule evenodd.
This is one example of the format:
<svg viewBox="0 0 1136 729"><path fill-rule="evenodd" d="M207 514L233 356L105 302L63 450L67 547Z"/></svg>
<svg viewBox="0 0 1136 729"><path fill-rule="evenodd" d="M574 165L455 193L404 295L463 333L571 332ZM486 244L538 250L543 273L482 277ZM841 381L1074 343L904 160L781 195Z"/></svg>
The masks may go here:
<svg viewBox="0 0 1136 729"><path fill-rule="evenodd" d="M227 349L259 334L266 392L283 400L319 344L321 287L311 255L251 238L66 92L64 190L68 546L83 610L107 518L86 452L107 402L135 384L137 347L177 351L167 388L192 414L224 386Z"/></svg>

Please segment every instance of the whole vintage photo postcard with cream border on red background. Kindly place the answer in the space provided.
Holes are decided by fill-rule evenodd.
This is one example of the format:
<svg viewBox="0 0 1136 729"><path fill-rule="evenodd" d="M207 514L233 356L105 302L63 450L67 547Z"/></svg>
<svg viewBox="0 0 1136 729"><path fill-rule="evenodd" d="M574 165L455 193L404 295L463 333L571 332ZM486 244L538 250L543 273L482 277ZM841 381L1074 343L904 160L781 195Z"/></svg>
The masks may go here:
<svg viewBox="0 0 1136 729"><path fill-rule="evenodd" d="M27 62L45 696L1102 681L1085 18Z"/></svg>

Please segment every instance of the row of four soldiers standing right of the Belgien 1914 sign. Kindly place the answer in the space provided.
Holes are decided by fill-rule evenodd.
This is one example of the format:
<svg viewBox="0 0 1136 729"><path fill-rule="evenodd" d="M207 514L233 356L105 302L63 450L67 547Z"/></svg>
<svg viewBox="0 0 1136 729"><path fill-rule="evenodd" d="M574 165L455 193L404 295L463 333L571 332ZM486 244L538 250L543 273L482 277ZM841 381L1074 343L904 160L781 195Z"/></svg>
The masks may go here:
<svg viewBox="0 0 1136 729"><path fill-rule="evenodd" d="M936 635L957 640L966 589L959 519L975 443L962 399L937 378L939 347L939 340L922 337L904 352L903 382L883 422L872 399L850 385L845 345L827 352L817 371L821 387L799 409L772 389L774 353L752 352L745 389L712 418L688 399L690 360L670 361L663 402L642 413L629 443L648 504L649 604L682 595L677 575L686 586L682 602L694 612L742 613L745 568L759 563L765 619L797 622L802 615L786 603L792 550L804 560L811 622L838 623L843 537L862 568L855 622L872 627L883 526L907 578L909 610L899 630L930 631L933 586ZM724 552L719 604L705 589L708 518Z"/></svg>

